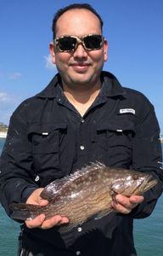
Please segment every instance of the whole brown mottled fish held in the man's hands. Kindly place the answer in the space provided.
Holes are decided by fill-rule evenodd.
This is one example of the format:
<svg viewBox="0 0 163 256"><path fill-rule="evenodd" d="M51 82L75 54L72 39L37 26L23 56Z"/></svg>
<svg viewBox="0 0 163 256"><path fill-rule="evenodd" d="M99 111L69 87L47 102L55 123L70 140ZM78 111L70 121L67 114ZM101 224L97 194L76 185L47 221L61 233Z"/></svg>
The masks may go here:
<svg viewBox="0 0 163 256"><path fill-rule="evenodd" d="M60 215L69 219L65 230L71 230L88 218L103 218L113 212L111 201L115 195L143 195L157 182L149 173L107 167L97 161L49 183L40 195L48 200L47 206L10 205L11 218L33 219L43 213L48 219Z"/></svg>

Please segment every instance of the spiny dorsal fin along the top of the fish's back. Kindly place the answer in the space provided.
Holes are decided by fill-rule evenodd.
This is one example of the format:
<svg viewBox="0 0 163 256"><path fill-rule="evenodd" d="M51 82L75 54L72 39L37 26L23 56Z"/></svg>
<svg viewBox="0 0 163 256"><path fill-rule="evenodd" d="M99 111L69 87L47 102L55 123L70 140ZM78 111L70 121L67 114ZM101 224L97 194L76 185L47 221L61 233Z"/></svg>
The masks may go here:
<svg viewBox="0 0 163 256"><path fill-rule="evenodd" d="M61 179L56 179L52 183L49 183L41 193L42 199L46 199L49 202L54 202L59 195L62 193L63 189L68 186L70 183L73 183L77 178L87 175L89 172L93 170L104 168L104 164L96 161L95 163L91 163L90 165L82 167L81 170L76 170L76 172L71 173L68 176L65 176Z"/></svg>

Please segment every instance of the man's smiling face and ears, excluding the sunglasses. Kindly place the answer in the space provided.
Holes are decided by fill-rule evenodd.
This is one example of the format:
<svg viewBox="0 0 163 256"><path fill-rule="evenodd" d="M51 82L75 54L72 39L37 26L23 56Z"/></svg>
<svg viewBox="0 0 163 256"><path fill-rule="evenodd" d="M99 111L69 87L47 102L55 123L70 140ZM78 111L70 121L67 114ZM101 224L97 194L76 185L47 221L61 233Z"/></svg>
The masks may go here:
<svg viewBox="0 0 163 256"><path fill-rule="evenodd" d="M56 24L56 38L61 36L82 37L88 34L101 35L98 17L87 9L71 9L59 17ZM59 52L50 44L52 61L56 64L64 85L79 88L100 83L100 73L107 60L107 42L101 49L87 50L78 44L75 51Z"/></svg>

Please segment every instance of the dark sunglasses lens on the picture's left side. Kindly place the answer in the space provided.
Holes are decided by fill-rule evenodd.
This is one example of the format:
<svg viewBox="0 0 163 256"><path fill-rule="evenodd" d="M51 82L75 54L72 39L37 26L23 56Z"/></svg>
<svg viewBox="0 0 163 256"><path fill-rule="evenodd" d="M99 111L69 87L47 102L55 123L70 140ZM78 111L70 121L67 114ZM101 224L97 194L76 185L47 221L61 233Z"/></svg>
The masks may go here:
<svg viewBox="0 0 163 256"><path fill-rule="evenodd" d="M64 37L58 40L59 49L61 50L71 50L75 48L76 38Z"/></svg>

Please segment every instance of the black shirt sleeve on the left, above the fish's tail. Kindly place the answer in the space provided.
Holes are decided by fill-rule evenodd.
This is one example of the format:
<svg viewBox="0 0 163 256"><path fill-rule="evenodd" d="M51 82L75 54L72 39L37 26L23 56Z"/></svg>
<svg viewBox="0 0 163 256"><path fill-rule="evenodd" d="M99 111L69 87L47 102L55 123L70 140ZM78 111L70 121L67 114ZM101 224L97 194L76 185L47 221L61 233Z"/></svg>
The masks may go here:
<svg viewBox="0 0 163 256"><path fill-rule="evenodd" d="M20 106L12 115L0 160L0 201L9 215L9 205L25 202L37 189L33 178L31 142L27 136L25 111Z"/></svg>

